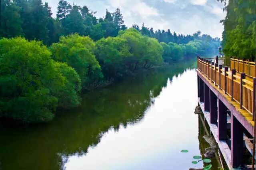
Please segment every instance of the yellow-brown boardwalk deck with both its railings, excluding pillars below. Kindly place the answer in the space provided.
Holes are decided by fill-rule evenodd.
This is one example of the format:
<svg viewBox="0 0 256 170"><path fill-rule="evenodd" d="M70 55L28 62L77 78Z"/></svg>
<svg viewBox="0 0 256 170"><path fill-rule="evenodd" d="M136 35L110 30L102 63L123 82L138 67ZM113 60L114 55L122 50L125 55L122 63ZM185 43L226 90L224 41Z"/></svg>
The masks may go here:
<svg viewBox="0 0 256 170"><path fill-rule="evenodd" d="M230 59L229 62L225 62L227 58L224 61L218 58L222 63L218 64L215 58L215 62L210 59L212 58L209 58L209 61L207 58L198 58L198 72L254 126L256 78L253 76L256 74L255 62L238 59ZM230 65L230 67L223 67L223 65ZM244 73L241 73L243 71Z"/></svg>

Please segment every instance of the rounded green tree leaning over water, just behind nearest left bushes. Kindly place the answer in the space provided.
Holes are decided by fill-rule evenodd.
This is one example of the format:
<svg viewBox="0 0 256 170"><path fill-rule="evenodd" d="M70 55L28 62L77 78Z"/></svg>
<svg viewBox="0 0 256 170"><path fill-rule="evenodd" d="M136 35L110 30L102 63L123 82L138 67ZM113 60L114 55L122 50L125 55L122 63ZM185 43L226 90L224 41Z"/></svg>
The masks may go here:
<svg viewBox="0 0 256 170"><path fill-rule="evenodd" d="M89 37L73 34L61 37L50 47L52 58L73 67L81 78L82 88L103 77L100 65L92 53L95 44Z"/></svg>

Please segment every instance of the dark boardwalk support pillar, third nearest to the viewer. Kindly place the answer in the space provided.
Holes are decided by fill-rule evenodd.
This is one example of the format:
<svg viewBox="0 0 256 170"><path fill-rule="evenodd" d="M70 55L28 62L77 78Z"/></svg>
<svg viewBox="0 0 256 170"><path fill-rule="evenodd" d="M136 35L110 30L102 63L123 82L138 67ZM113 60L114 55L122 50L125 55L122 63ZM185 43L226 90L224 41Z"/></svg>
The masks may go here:
<svg viewBox="0 0 256 170"><path fill-rule="evenodd" d="M210 90L210 122L217 123L217 96Z"/></svg>

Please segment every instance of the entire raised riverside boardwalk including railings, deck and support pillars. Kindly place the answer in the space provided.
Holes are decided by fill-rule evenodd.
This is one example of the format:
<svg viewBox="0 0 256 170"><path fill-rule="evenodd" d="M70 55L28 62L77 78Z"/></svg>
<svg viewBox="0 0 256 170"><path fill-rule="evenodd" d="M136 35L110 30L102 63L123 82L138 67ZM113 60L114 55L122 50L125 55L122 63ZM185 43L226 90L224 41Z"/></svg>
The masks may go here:
<svg viewBox="0 0 256 170"><path fill-rule="evenodd" d="M230 169L248 167L243 161L244 143L252 153L255 63L218 57L198 57L197 63L198 103L224 159Z"/></svg>

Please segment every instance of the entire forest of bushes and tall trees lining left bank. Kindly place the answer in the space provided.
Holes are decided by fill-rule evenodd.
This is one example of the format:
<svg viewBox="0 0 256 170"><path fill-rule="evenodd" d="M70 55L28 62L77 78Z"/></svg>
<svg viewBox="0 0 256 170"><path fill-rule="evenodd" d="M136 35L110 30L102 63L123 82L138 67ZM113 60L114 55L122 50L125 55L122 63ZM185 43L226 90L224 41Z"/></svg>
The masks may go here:
<svg viewBox="0 0 256 170"><path fill-rule="evenodd" d="M140 69L216 53L220 39L134 25L119 9L96 18L88 7L58 4L56 18L41 0L1 0L0 117L47 122L58 108L80 104L82 90Z"/></svg>

